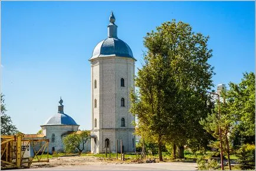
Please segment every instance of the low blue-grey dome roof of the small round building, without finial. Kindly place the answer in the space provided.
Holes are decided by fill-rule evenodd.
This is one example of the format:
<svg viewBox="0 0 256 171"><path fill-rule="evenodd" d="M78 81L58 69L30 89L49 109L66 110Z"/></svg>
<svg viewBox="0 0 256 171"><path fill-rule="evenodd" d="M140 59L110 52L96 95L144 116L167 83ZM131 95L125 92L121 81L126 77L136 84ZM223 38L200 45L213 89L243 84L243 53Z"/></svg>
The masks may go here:
<svg viewBox="0 0 256 171"><path fill-rule="evenodd" d="M47 122L45 123L45 125L56 125L56 124L78 125L72 117L64 113L55 114L54 116L50 117L50 119L48 119Z"/></svg>

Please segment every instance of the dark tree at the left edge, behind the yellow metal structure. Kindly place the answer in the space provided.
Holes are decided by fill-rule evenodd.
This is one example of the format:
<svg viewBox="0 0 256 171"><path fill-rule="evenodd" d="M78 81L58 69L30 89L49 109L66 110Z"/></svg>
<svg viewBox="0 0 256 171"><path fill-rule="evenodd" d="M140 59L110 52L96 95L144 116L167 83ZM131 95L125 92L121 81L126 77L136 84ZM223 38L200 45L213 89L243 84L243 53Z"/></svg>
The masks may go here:
<svg viewBox="0 0 256 171"><path fill-rule="evenodd" d="M4 104L4 94L1 93L1 135L17 134L17 127L12 124L11 116L8 116Z"/></svg>

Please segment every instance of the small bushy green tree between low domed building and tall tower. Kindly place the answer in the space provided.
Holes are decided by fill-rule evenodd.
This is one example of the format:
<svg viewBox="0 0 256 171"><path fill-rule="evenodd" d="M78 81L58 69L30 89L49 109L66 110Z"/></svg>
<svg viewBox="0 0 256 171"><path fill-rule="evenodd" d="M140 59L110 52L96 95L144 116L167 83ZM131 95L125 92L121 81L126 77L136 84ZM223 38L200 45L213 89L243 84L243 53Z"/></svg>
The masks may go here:
<svg viewBox="0 0 256 171"><path fill-rule="evenodd" d="M68 134L63 139L63 144L65 152L74 153L78 151L80 155L84 148L87 140L90 138L90 131L77 131L71 134Z"/></svg>

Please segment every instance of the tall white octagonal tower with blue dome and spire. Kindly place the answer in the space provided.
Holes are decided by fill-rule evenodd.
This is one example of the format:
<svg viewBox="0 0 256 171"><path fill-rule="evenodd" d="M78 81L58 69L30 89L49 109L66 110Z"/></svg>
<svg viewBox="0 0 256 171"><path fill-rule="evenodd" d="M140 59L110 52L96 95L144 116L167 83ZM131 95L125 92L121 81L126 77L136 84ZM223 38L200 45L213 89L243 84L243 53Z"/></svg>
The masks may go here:
<svg viewBox="0 0 256 171"><path fill-rule="evenodd" d="M134 116L129 112L129 93L134 88L132 50L117 38L113 12L109 18L107 38L100 41L89 59L91 63L91 153L135 151Z"/></svg>

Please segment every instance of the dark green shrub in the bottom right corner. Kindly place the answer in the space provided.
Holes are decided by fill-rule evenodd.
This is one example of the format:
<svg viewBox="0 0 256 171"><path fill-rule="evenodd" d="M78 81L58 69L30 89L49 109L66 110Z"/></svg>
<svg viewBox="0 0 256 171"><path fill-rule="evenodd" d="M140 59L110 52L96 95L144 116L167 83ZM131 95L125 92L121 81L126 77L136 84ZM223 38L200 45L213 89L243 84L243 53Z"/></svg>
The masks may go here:
<svg viewBox="0 0 256 171"><path fill-rule="evenodd" d="M255 145L243 144L237 151L238 162L242 170L255 169Z"/></svg>

